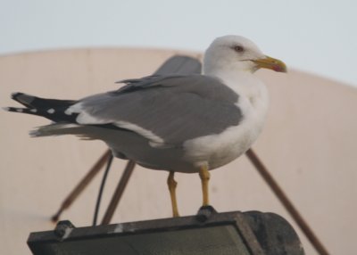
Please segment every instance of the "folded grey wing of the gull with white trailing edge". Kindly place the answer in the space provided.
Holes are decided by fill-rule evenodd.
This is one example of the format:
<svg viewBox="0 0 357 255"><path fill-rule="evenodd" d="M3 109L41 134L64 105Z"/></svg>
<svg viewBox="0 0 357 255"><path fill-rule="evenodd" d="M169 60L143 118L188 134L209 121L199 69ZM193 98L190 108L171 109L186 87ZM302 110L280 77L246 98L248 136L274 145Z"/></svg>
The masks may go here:
<svg viewBox="0 0 357 255"><path fill-rule="evenodd" d="M217 78L155 75L122 82L126 86L84 98L67 114L78 114L79 124L129 129L158 146L220 134L242 119L238 95Z"/></svg>

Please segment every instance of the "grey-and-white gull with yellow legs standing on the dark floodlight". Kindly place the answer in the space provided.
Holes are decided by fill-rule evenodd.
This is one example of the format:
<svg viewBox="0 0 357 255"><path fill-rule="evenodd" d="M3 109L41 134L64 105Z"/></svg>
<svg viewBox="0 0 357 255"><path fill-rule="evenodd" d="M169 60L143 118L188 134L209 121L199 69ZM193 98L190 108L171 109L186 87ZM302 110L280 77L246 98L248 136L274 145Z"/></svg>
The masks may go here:
<svg viewBox="0 0 357 255"><path fill-rule="evenodd" d="M33 114L53 122L30 136L76 135L104 141L115 157L169 171L172 214L179 217L175 172L198 173L209 205L209 170L245 153L262 131L269 106L259 69L286 72L241 36L217 37L203 56L203 73L124 79L119 89L80 100L13 93Z"/></svg>

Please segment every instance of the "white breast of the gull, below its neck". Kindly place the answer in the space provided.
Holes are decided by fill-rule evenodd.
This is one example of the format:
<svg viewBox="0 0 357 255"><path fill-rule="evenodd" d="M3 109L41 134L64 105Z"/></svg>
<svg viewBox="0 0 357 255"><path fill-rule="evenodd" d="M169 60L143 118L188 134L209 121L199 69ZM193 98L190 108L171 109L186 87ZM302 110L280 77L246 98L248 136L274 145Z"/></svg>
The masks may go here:
<svg viewBox="0 0 357 255"><path fill-rule="evenodd" d="M239 95L237 106L243 119L238 126L228 127L219 135L203 136L184 144L187 160L199 167L208 164L216 169L246 152L262 131L269 106L266 87L252 74L223 78Z"/></svg>

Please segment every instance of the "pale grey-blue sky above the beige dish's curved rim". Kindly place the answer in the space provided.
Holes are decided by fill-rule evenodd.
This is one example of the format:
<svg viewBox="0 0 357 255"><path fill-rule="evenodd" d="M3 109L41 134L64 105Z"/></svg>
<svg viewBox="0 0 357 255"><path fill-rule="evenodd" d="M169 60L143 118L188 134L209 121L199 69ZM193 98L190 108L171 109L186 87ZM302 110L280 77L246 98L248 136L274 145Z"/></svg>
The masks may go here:
<svg viewBox="0 0 357 255"><path fill-rule="evenodd" d="M203 51L237 34L289 67L357 86L357 1L0 0L0 54L144 46Z"/></svg>

